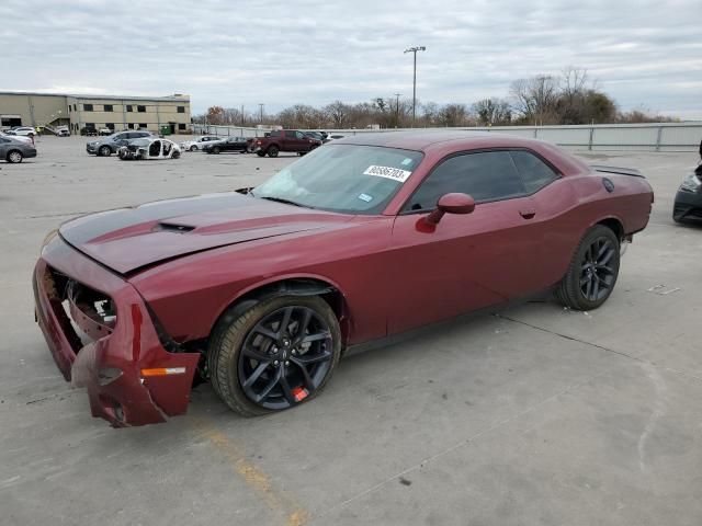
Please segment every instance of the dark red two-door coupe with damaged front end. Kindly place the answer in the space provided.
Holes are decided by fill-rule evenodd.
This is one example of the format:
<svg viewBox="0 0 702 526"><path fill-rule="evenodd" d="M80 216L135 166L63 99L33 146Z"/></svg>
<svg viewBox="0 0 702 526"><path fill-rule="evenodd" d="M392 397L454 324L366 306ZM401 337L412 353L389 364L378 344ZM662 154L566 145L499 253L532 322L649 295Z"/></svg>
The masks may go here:
<svg viewBox="0 0 702 526"><path fill-rule="evenodd" d="M599 307L652 203L638 172L536 140L350 137L254 188L66 222L36 317L114 426L184 413L197 379L257 415L314 398L360 343L552 287Z"/></svg>

